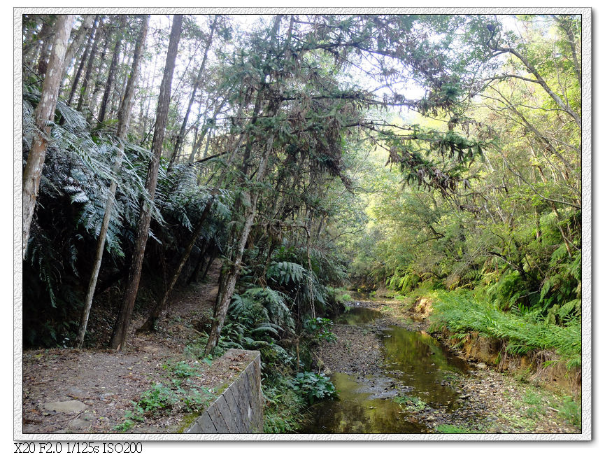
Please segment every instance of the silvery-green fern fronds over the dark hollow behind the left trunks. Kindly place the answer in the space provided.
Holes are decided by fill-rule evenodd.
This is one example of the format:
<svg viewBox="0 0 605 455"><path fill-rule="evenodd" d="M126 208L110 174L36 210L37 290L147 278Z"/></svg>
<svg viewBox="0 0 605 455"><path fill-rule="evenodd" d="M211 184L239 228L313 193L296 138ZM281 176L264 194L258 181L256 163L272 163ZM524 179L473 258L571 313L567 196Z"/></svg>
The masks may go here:
<svg viewBox="0 0 605 455"><path fill-rule="evenodd" d="M39 97L31 87L24 90L24 162L35 132L33 113ZM91 251L99 237L111 181L118 182L118 191L100 283L125 266L141 203L151 205L150 237L162 243L162 254L170 259L190 236L210 197L210 188L198 185L195 168L181 166L167 174L162 163L152 203L145 190L149 151L126 142L122 144L122 167L113 169L120 148L113 133L103 128L92 130L81 113L60 99L48 139L36 218L24 261L24 340L32 346L69 346L76 338L83 283L92 269ZM230 204L229 191L222 189L215 195L207 228L201 233L206 243L223 241ZM157 263L157 250L148 251L145 257Z"/></svg>

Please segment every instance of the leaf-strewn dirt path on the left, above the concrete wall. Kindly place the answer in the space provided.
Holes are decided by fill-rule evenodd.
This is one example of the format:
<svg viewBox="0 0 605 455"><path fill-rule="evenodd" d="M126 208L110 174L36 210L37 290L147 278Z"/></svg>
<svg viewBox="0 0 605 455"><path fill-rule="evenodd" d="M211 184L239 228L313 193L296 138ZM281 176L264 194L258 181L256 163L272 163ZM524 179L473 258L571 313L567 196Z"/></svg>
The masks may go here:
<svg viewBox="0 0 605 455"><path fill-rule="evenodd" d="M131 401L156 383L170 380L166 365L195 363L185 356L188 344L199 337L199 323L211 315L220 265L204 282L175 290L169 311L150 334L136 334L145 312L134 314L129 345L122 351L98 349L36 349L23 353L23 433L116 433L132 409ZM93 317L100 317L99 311ZM92 321L93 325L99 321ZM200 370L196 385L211 389L232 377L230 360L218 359ZM129 428L134 433L174 432L183 409L157 418L149 416ZM148 416L146 416L148 417Z"/></svg>

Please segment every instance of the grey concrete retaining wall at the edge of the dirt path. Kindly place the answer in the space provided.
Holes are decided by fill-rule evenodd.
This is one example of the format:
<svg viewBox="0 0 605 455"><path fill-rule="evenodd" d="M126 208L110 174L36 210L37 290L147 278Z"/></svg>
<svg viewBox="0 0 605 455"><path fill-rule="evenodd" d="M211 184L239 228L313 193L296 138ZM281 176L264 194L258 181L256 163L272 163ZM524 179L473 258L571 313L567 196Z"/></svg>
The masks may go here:
<svg viewBox="0 0 605 455"><path fill-rule="evenodd" d="M230 349L225 355L236 352L241 350ZM248 352L250 363L183 433L262 433L260 353Z"/></svg>

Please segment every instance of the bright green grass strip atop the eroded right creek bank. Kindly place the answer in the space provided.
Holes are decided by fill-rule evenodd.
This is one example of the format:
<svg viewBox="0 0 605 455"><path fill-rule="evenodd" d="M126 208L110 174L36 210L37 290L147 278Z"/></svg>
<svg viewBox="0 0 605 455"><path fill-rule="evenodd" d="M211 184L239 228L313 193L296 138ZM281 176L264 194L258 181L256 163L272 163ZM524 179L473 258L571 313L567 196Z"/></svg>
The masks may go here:
<svg viewBox="0 0 605 455"><path fill-rule="evenodd" d="M564 325L549 323L538 314L502 311L495 304L475 300L467 291L439 292L433 304L435 328L446 327L454 334L479 332L506 341L506 350L526 354L545 349L558 353L568 369L581 365L581 325L577 318Z"/></svg>

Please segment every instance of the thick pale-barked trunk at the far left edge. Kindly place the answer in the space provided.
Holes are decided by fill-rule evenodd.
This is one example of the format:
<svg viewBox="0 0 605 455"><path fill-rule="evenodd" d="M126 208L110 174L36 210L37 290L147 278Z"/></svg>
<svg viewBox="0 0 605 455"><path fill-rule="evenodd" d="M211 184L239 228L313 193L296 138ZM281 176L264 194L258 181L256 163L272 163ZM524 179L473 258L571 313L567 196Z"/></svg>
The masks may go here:
<svg viewBox="0 0 605 455"><path fill-rule="evenodd" d="M57 18L55 39L52 42L52 52L48 62L48 76L44 78L42 96L34 112L38 132L34 135L34 141L27 157L27 164L23 171L23 258L27 253L29 227L36 209L40 177L46 156L46 145L51 129L49 124L55 118L55 106L57 106L57 97L59 96L67 40L75 17L73 14L62 14Z"/></svg>

